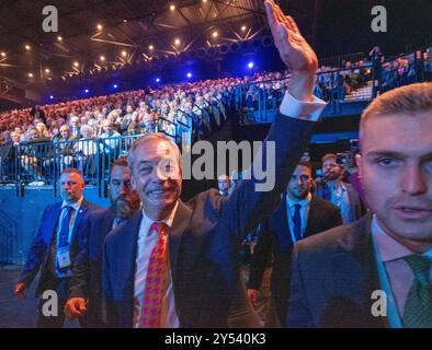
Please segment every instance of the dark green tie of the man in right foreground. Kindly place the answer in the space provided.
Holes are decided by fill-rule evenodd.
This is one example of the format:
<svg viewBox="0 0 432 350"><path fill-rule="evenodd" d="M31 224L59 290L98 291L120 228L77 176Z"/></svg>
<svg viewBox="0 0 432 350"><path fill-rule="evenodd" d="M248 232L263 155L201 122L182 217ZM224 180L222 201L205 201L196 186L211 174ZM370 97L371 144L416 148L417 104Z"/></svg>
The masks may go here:
<svg viewBox="0 0 432 350"><path fill-rule="evenodd" d="M405 328L432 328L432 284L429 282L431 260L424 256L405 257L414 275L403 311Z"/></svg>

